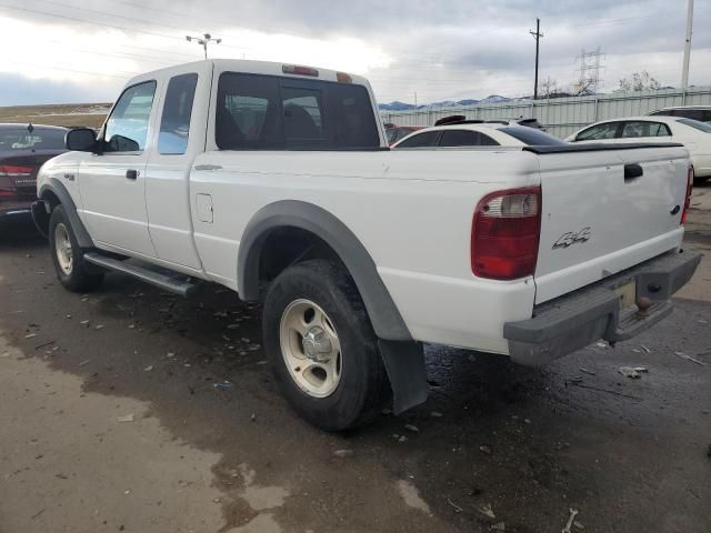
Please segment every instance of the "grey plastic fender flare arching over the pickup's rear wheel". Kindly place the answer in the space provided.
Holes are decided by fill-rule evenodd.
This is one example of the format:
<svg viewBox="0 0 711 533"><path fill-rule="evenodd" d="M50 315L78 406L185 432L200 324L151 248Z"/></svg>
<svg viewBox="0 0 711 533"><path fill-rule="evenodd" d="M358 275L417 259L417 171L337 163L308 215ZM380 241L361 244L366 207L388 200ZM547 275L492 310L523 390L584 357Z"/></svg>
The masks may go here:
<svg viewBox="0 0 711 533"><path fill-rule="evenodd" d="M238 254L238 291L244 301L260 298L260 257L269 234L278 228L300 228L336 251L360 292L375 334L388 341L412 341L374 261L343 222L318 205L282 200L258 211L244 230Z"/></svg>

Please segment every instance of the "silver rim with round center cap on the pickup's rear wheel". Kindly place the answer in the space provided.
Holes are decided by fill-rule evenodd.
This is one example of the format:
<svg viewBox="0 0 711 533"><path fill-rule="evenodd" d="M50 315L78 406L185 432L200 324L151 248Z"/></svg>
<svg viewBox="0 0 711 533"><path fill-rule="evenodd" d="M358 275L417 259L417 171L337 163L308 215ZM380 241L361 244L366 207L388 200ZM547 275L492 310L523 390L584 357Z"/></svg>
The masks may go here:
<svg viewBox="0 0 711 533"><path fill-rule="evenodd" d="M341 381L341 342L333 321L309 300L291 302L279 326L279 342L289 375L313 398L333 394Z"/></svg>

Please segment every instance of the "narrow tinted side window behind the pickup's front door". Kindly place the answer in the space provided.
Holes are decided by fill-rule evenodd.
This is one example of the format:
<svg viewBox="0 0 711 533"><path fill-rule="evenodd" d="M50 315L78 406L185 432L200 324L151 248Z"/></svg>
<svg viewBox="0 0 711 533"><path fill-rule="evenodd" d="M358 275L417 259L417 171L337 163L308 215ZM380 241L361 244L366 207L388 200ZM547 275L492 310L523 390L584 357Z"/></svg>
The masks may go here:
<svg viewBox="0 0 711 533"><path fill-rule="evenodd" d="M180 74L170 79L166 91L163 115L160 119L158 152L183 154L188 150L190 115L196 97L198 74Z"/></svg>

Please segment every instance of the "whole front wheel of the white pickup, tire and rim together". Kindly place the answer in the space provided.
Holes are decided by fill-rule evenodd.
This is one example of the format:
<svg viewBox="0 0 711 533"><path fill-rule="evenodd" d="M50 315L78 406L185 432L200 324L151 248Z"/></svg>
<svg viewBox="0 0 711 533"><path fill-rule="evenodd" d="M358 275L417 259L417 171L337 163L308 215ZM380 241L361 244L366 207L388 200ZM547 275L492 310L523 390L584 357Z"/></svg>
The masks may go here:
<svg viewBox="0 0 711 533"><path fill-rule="evenodd" d="M103 273L84 262L83 251L62 205L54 208L49 220L49 247L57 279L64 289L89 292L101 285Z"/></svg>

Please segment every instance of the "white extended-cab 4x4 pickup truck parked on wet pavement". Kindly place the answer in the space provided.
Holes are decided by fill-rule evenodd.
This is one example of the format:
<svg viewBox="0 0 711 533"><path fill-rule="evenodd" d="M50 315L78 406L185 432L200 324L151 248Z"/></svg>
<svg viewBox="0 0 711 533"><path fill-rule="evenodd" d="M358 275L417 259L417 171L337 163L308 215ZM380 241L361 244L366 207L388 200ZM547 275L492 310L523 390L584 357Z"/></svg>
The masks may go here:
<svg viewBox="0 0 711 533"><path fill-rule="evenodd" d="M33 215L70 291L262 302L283 394L329 430L424 401L424 342L543 364L654 324L699 263L679 145L387 147L360 77L200 61L68 133Z"/></svg>

